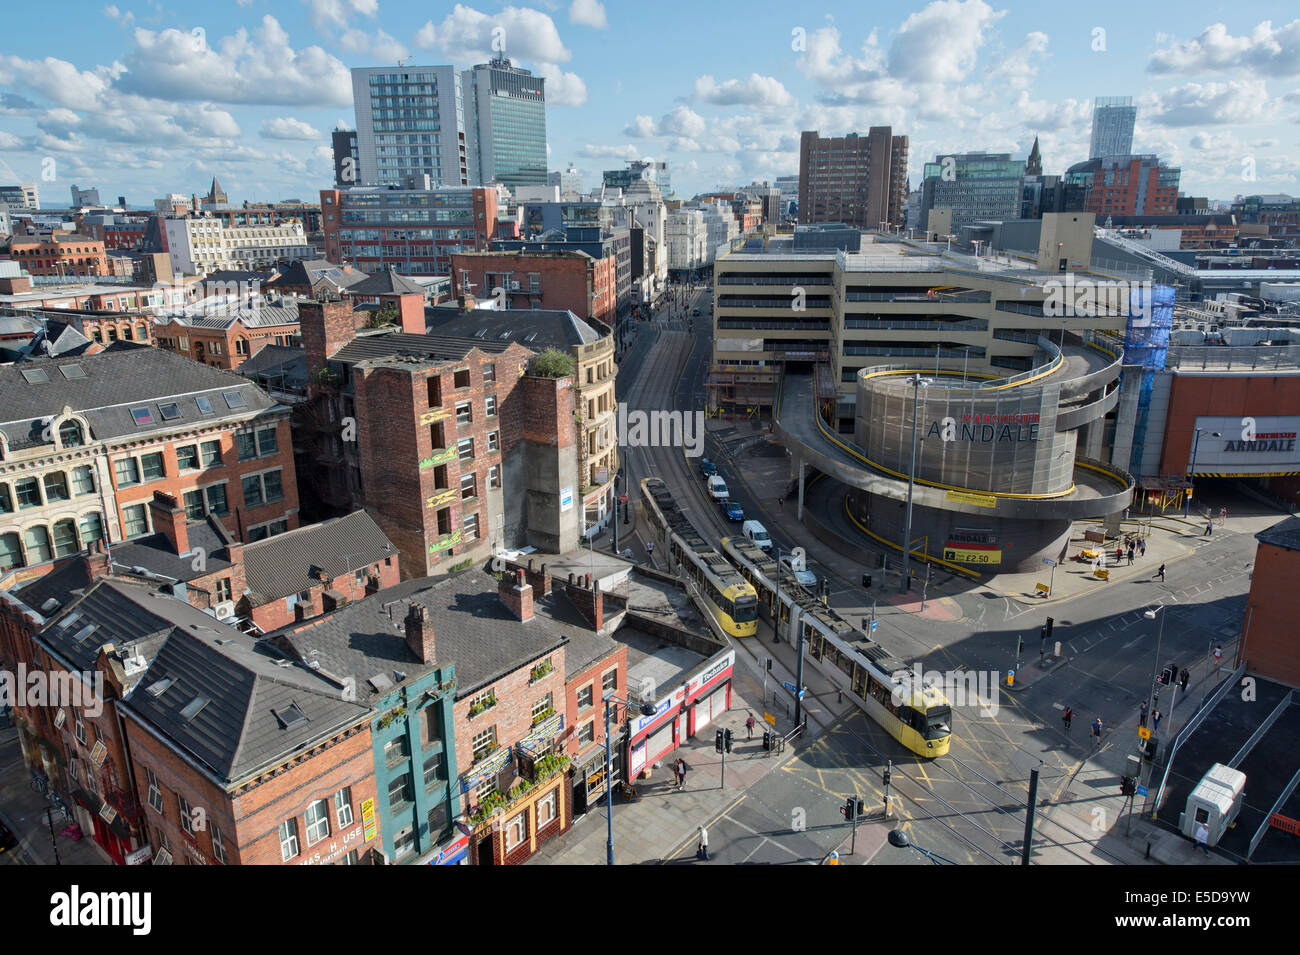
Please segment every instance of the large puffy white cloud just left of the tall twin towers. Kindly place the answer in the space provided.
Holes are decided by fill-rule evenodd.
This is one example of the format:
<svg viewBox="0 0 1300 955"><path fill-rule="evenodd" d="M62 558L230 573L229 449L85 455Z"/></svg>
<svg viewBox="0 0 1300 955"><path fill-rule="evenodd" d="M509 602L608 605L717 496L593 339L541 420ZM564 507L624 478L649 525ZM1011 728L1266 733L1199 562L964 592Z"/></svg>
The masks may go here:
<svg viewBox="0 0 1300 955"><path fill-rule="evenodd" d="M352 81L343 62L320 47L295 51L270 16L252 34L240 29L222 38L218 49L196 47L195 38L179 30L136 30L118 84L169 100L352 105Z"/></svg>

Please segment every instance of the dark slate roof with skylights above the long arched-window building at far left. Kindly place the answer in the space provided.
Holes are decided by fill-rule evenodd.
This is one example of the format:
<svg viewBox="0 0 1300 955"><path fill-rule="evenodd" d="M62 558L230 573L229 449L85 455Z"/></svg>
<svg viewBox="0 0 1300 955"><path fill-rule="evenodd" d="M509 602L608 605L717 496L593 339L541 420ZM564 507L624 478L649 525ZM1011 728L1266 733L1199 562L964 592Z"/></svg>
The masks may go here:
<svg viewBox="0 0 1300 955"><path fill-rule="evenodd" d="M42 372L47 381L29 381ZM235 398L237 407L230 405L228 394ZM211 414L199 408L200 396L211 404ZM170 403L177 404L178 416L165 421L160 404ZM91 437L104 440L204 421L250 418L274 404L243 376L130 342L118 342L96 355L0 368L0 430L12 448L49 443L42 440L43 421L65 405L84 414ZM133 408L148 408L152 420L136 425Z"/></svg>

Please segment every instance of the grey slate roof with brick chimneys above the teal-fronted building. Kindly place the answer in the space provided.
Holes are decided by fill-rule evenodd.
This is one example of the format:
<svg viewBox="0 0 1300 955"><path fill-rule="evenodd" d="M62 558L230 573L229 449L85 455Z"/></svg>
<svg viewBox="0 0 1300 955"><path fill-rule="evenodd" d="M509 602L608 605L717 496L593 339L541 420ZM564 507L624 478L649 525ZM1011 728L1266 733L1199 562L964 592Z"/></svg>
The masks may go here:
<svg viewBox="0 0 1300 955"><path fill-rule="evenodd" d="M424 605L433 622L432 667L421 664L406 643L404 620L412 603ZM403 581L320 617L318 624L298 633L286 628L270 639L337 677L352 677L358 699L367 700L391 693L400 682L395 672L411 681L454 664L456 698L462 699L590 630L560 592L534 599L534 612L533 620L521 624L497 595L497 578L474 568L442 581ZM369 682L372 677L381 680L381 689Z"/></svg>

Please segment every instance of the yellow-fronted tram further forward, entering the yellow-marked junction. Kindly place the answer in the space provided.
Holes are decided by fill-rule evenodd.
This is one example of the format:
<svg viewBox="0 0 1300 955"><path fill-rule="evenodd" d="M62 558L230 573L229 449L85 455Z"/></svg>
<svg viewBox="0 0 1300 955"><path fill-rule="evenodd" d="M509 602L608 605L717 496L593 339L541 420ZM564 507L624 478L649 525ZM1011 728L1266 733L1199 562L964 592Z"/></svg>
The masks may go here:
<svg viewBox="0 0 1300 955"><path fill-rule="evenodd" d="M774 622L780 615L785 634L803 629L810 663L836 689L918 756L948 752L953 709L939 687L920 682L884 647L800 586L793 573L779 568L776 557L751 541L724 537L722 548L754 587Z"/></svg>

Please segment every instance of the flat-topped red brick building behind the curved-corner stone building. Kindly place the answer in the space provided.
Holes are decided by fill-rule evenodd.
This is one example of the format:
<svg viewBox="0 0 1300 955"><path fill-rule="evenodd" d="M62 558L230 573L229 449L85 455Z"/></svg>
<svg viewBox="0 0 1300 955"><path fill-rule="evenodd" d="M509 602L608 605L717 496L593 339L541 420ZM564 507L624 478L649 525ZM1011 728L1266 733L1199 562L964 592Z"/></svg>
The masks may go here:
<svg viewBox="0 0 1300 955"><path fill-rule="evenodd" d="M615 259L593 259L586 252L454 253L451 296L458 301L500 299L508 308L567 309L612 326L618 305Z"/></svg>

